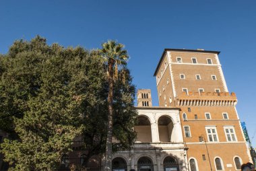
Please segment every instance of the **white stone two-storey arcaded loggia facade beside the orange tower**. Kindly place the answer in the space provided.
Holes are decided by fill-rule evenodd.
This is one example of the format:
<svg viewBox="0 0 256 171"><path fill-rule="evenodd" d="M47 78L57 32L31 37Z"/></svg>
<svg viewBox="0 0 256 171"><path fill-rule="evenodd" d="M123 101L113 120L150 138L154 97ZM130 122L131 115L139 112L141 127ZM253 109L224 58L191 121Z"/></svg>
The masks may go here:
<svg viewBox="0 0 256 171"><path fill-rule="evenodd" d="M141 169L142 166L138 165L139 159L143 157L146 157L152 161L151 171L153 170L153 168L154 171L188 170L186 150L187 148L185 147L185 143L183 142L183 133L179 117L179 108L150 107L137 108L137 111L139 116L145 116L150 121L151 135L148 136L152 137L152 142L136 141L131 151L119 151L117 153L114 153L113 160L115 158L122 158L123 160L125 160L127 164L127 170L143 170ZM159 132L158 130L158 128L160 127L158 125L158 119L162 116L170 118L173 124L170 135L170 141L168 142L160 141L161 132ZM164 164L164 160L167 157L171 157L176 161L177 168L175 168L175 166L170 165L168 167L164 167L166 166ZM143 166L145 170L147 170L147 167L149 166Z"/></svg>

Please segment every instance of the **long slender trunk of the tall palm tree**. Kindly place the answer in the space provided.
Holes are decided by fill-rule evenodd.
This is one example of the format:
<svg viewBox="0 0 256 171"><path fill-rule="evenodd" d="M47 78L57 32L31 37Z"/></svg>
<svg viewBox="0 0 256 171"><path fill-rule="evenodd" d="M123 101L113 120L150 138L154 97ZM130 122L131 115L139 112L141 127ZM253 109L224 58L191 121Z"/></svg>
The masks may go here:
<svg viewBox="0 0 256 171"><path fill-rule="evenodd" d="M112 137L113 137L113 66L114 61L108 61L108 125L106 135L106 164L104 171L112 171Z"/></svg>

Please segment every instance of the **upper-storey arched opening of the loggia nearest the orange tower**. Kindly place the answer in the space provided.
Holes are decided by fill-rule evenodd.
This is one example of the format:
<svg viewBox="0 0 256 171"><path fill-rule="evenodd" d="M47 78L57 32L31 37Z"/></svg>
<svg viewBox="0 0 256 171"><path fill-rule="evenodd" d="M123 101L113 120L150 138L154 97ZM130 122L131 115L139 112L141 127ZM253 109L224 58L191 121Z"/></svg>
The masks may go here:
<svg viewBox="0 0 256 171"><path fill-rule="evenodd" d="M158 118L159 140L161 142L170 142L172 137L173 123L168 116Z"/></svg>

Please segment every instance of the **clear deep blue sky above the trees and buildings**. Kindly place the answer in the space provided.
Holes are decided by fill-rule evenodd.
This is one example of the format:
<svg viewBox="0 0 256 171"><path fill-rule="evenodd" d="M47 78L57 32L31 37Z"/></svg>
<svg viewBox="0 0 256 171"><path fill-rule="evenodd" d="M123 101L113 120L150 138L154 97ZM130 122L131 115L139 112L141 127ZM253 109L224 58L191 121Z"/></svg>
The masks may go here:
<svg viewBox="0 0 256 171"><path fill-rule="evenodd" d="M125 44L137 88L150 88L158 105L154 69L164 48L220 50L228 90L250 137L256 129L256 1L0 1L0 53L36 34L49 44L100 48ZM253 139L256 147L256 136Z"/></svg>

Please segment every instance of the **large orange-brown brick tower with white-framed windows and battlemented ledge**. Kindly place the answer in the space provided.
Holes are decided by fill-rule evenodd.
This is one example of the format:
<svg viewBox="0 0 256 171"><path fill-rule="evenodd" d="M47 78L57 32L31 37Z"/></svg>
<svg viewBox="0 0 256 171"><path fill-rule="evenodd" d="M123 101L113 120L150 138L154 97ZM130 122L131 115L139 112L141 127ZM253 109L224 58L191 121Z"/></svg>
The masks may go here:
<svg viewBox="0 0 256 171"><path fill-rule="evenodd" d="M219 53L166 48L154 73L159 106L181 108L190 170L239 170L252 162Z"/></svg>

